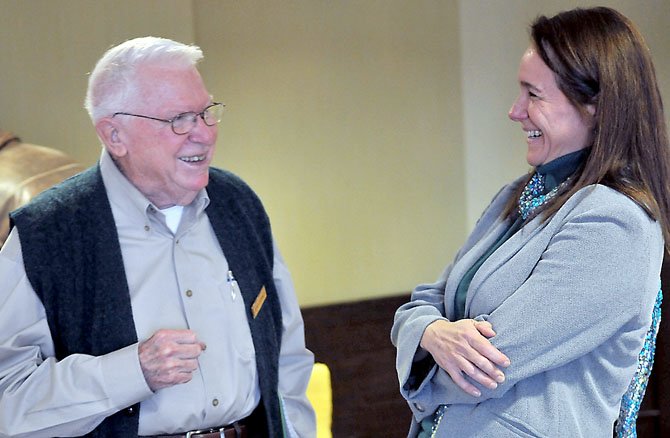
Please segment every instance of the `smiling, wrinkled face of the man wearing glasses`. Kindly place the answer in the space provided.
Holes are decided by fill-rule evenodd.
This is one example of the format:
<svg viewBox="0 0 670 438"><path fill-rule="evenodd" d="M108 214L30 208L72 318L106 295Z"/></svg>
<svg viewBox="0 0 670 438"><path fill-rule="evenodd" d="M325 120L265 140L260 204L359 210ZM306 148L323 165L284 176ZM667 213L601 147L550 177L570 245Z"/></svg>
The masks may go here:
<svg viewBox="0 0 670 438"><path fill-rule="evenodd" d="M172 119L185 112L199 113L212 103L195 68L145 66L138 72L137 96L123 111ZM186 205L208 183L217 126L198 117L193 130L178 135L170 123L123 117L120 135L123 154L115 156L125 176L159 208Z"/></svg>

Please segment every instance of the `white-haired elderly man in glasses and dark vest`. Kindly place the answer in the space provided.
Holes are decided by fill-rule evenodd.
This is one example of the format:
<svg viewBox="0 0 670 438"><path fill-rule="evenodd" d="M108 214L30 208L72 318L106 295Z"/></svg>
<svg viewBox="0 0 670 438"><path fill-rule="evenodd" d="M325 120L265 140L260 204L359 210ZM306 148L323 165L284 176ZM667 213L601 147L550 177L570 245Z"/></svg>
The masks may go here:
<svg viewBox="0 0 670 438"><path fill-rule="evenodd" d="M11 215L0 436L315 434L313 356L259 199L210 168L223 105L162 38L110 49L98 166Z"/></svg>

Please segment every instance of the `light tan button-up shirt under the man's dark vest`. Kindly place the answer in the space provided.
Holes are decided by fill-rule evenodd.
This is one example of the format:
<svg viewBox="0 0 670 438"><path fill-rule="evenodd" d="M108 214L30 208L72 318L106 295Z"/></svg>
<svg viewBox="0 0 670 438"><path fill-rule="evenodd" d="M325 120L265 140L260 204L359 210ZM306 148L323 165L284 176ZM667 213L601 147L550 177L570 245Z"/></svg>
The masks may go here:
<svg viewBox="0 0 670 438"><path fill-rule="evenodd" d="M161 328L194 330L207 344L185 384L153 393L137 344L100 356L57 362L44 307L25 274L17 230L0 251L0 436L84 434L108 415L141 402L139 434L229 424L251 413L260 390L244 302L209 223L202 190L172 232L103 152L101 171L117 224L140 342ZM232 273L234 276L234 273ZM313 355L284 261L275 247L274 279L284 333L279 392L299 436L313 436L305 397ZM19 310L20 309L20 310Z"/></svg>

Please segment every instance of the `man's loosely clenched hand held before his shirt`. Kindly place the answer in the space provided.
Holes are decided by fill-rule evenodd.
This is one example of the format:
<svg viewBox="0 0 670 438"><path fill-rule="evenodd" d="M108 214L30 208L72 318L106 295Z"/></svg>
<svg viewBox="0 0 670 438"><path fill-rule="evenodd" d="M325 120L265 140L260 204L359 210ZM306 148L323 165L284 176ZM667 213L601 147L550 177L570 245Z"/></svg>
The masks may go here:
<svg viewBox="0 0 670 438"><path fill-rule="evenodd" d="M140 343L140 366L152 391L186 383L207 346L191 330L158 330Z"/></svg>

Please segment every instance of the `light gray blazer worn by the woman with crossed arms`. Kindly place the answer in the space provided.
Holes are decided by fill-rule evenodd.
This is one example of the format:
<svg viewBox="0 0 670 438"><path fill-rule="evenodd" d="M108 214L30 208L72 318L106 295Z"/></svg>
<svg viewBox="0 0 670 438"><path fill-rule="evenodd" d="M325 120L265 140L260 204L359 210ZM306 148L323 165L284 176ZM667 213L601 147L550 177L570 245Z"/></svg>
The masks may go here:
<svg viewBox="0 0 670 438"><path fill-rule="evenodd" d="M417 422L449 407L438 437L611 437L623 393L651 324L663 259L658 223L602 185L573 195L549 220L535 218L498 248L470 285L465 317L491 322L511 360L506 380L481 397L434 366L410 387L425 357L424 329L454 318L462 276L509 226L500 218L519 178L504 187L439 281L421 285L391 331L400 392Z"/></svg>

